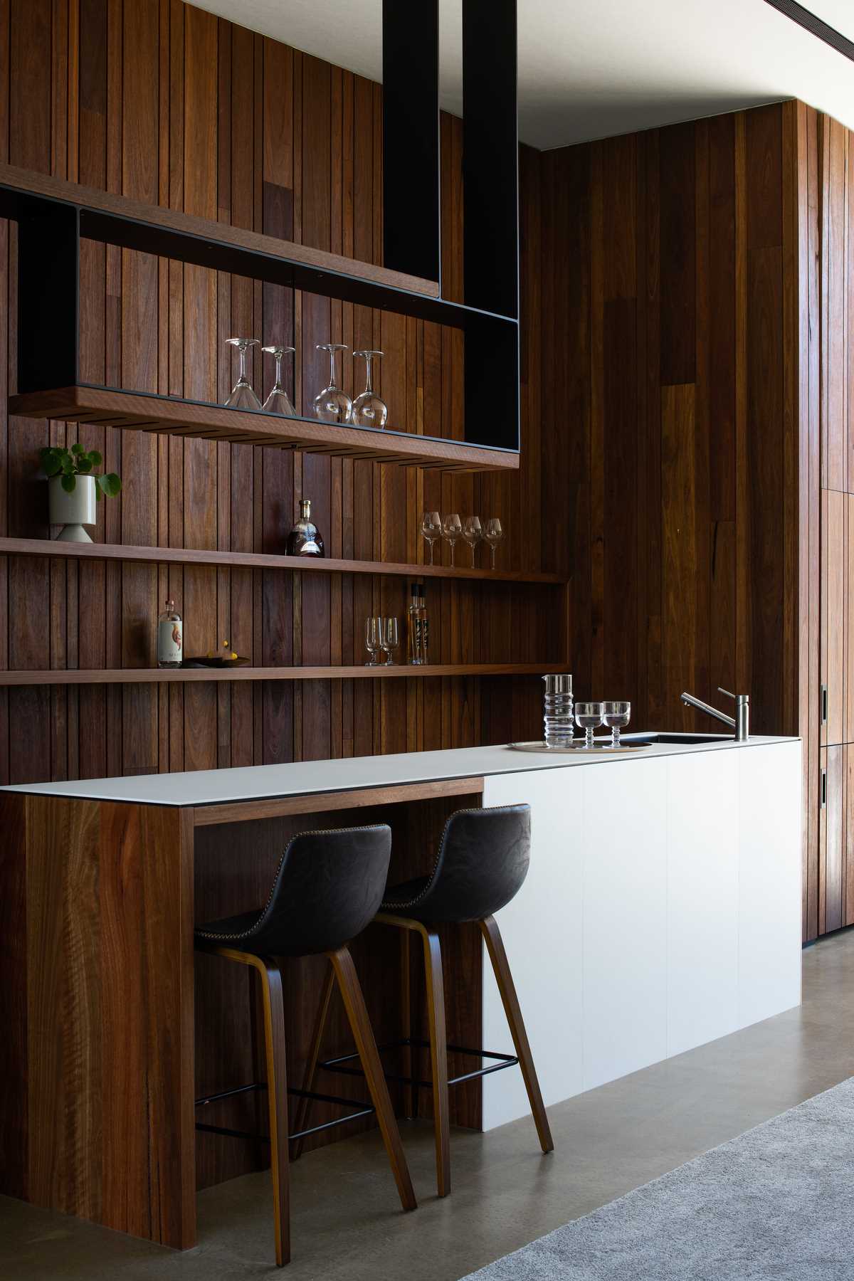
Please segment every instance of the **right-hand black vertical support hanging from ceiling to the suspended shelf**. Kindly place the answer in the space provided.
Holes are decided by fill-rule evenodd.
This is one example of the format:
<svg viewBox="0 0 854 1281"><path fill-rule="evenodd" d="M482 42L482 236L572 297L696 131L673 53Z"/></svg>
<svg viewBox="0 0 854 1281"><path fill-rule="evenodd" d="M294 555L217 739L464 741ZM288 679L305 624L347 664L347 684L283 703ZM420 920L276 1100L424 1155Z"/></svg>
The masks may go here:
<svg viewBox="0 0 854 1281"><path fill-rule="evenodd" d="M462 0L465 302L519 318L516 0Z"/></svg>

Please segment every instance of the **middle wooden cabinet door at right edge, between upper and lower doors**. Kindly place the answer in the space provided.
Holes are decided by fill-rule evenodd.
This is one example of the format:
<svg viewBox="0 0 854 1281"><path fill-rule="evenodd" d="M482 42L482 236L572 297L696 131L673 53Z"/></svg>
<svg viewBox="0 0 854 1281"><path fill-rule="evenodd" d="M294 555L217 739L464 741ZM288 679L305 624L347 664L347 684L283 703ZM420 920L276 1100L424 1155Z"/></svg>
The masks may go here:
<svg viewBox="0 0 854 1281"><path fill-rule="evenodd" d="M822 489L821 683L822 746L845 743L848 731L845 660L848 649L849 496ZM854 707L851 708L854 720ZM854 725L851 726L854 728Z"/></svg>

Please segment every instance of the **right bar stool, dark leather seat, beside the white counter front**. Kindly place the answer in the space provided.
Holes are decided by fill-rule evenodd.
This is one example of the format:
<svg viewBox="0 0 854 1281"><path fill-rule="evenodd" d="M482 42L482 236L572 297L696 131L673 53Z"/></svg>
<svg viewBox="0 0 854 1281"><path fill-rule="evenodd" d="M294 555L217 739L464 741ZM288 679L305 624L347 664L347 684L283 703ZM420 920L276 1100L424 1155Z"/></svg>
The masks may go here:
<svg viewBox="0 0 854 1281"><path fill-rule="evenodd" d="M419 934L424 948L424 970L426 980L428 1025L430 1032L431 1081L421 1082L411 1076L391 1076L407 1086L431 1085L433 1116L435 1127L437 1186L439 1196L451 1191L451 1149L448 1123L448 1086L467 1081L476 1076L501 1071L519 1065L536 1126L536 1134L543 1152L552 1152L554 1143L549 1130L543 1097L540 1094L536 1070L522 1022L516 988L507 963L507 953L493 913L519 893L530 862L531 817L530 806L494 806L485 810L458 810L448 819L439 852L429 876L403 881L388 886L383 897L382 910L375 917L378 922L393 925L402 930L403 963L403 1021L410 1021L410 933ZM444 986L442 975L442 947L437 931L438 925L460 925L476 921L487 944L489 959L495 974L498 990L510 1024L516 1056L495 1054L484 1049L469 1049L448 1045L444 1018ZM325 1015L321 1015L321 1018ZM407 1056L412 1047L425 1047L426 1043L412 1038L411 1027L405 1026L405 1036L394 1043L403 1048ZM383 1049L391 1049L391 1045ZM347 1067L347 1061L356 1058L346 1054L335 1059L319 1061L320 1040L316 1038L312 1062L318 1067L333 1072L357 1073ZM455 1053L474 1054L481 1059L492 1059L488 1067L466 1072L448 1080L448 1049ZM361 1073L359 1073L361 1075ZM314 1070L306 1072L306 1081L314 1084Z"/></svg>

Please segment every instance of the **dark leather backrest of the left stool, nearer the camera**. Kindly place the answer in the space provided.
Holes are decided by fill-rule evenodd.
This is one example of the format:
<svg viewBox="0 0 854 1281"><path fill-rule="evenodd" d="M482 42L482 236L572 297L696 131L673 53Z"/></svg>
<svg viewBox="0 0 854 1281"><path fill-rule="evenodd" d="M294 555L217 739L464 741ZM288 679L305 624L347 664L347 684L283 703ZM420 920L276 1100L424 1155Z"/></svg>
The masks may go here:
<svg viewBox="0 0 854 1281"><path fill-rule="evenodd" d="M391 854L392 829L384 822L300 833L288 842L266 907L243 942L269 956L337 951L375 916Z"/></svg>

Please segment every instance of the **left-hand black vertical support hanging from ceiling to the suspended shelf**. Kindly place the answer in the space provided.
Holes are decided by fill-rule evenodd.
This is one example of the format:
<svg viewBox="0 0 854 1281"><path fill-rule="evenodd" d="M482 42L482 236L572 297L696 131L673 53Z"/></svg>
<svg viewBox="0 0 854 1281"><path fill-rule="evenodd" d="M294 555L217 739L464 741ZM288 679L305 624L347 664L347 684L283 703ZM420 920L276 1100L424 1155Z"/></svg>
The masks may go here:
<svg viewBox="0 0 854 1281"><path fill-rule="evenodd" d="M383 0L383 263L439 279L438 0Z"/></svg>

